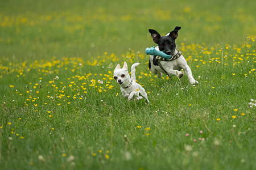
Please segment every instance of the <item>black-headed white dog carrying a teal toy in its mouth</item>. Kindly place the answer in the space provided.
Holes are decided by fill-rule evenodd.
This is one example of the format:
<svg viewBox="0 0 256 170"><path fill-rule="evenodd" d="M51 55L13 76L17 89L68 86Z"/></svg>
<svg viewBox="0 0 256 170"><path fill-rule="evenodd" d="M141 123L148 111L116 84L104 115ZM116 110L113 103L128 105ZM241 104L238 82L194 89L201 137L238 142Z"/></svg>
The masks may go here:
<svg viewBox="0 0 256 170"><path fill-rule="evenodd" d="M179 70L183 69L188 76L189 82L191 84L198 84L193 78L192 71L187 64L187 61L182 56L181 52L176 49L175 39L177 38L177 32L180 29L181 27L175 27L174 31L171 31L166 36L160 36L154 29L148 29L153 41L158 44L155 49L160 50L167 55L171 55L170 59L150 55L148 67L153 74L158 75L158 78L162 77L162 73L181 78L184 73Z"/></svg>

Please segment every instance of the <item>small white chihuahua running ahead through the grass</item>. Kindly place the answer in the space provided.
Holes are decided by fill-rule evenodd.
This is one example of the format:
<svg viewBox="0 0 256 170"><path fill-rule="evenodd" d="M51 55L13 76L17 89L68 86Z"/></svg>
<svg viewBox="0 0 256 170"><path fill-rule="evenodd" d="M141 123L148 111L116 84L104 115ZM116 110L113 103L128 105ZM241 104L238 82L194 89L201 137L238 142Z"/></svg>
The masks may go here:
<svg viewBox="0 0 256 170"><path fill-rule="evenodd" d="M117 81L118 84L121 86L121 92L123 97L128 100L139 100L145 99L147 103L149 103L147 99L147 93L144 88L135 82L135 67L138 66L139 63L134 63L131 66L131 78L128 73L128 66L127 63L123 63L123 68L121 69L120 65L118 64L114 70L114 79Z"/></svg>

